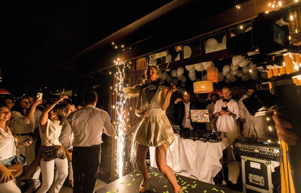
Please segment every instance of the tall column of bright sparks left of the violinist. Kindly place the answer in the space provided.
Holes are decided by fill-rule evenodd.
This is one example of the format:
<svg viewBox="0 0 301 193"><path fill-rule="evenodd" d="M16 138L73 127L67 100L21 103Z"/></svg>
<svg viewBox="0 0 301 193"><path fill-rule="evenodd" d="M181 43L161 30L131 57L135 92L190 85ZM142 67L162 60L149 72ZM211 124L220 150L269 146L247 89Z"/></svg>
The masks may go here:
<svg viewBox="0 0 301 193"><path fill-rule="evenodd" d="M116 61L116 76L117 83L115 85L115 91L117 94L117 99L120 98L119 105L116 105L116 173L119 173L119 178L122 177L123 170L123 157L125 155L124 147L125 147L125 131L126 131L126 115L125 110L123 109L124 104L126 102L126 97L123 92L123 79L124 79L124 70L125 64L124 62L119 62L119 58ZM118 98L119 97L119 98ZM112 150L113 151L113 150Z"/></svg>

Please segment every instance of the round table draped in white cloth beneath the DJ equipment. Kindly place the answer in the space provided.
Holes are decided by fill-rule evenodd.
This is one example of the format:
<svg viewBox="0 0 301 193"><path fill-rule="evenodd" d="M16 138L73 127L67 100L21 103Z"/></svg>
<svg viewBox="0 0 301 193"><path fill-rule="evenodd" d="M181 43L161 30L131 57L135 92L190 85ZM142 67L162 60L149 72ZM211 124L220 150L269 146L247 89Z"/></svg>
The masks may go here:
<svg viewBox="0 0 301 193"><path fill-rule="evenodd" d="M169 147L170 152L167 150L167 165L177 173L185 170L186 172L180 173L182 176L195 176L200 181L211 183L211 177L215 177L222 169L219 160L223 149L229 145L227 138L221 138L221 142L202 142L180 138L180 135L175 134L175 141ZM151 166L157 167L155 147L150 147L150 159Z"/></svg>

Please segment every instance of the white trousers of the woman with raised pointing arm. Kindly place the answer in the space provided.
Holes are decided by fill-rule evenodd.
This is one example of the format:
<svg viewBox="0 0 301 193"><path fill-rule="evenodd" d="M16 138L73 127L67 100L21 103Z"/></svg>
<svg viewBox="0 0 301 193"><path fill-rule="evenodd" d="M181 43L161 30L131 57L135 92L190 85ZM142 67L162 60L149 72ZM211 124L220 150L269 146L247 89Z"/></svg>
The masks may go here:
<svg viewBox="0 0 301 193"><path fill-rule="evenodd" d="M58 178L53 182L54 164L58 171ZM37 193L46 193L48 190L49 190L49 193L58 193L60 191L65 179L68 176L67 158L64 160L57 158L57 159L51 160L51 161L43 161L41 159L40 167L41 167L41 173L42 173L42 185L39 188L39 190L37 191ZM52 185L52 182L53 182L53 185Z"/></svg>

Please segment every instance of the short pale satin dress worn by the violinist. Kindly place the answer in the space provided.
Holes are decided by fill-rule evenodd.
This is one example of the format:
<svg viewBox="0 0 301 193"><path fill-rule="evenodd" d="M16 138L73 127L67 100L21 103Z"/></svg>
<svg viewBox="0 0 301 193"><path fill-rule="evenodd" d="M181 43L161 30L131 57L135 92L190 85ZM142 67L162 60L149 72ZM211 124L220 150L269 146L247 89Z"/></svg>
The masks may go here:
<svg viewBox="0 0 301 193"><path fill-rule="evenodd" d="M147 88L142 90L141 104L143 109L149 109L151 104L148 104L146 100L145 89ZM142 120L136 130L135 141L141 145L148 147L160 146L163 143L171 145L175 140L166 113L160 107L161 92L162 90L152 99L154 103L150 109L149 117L146 120Z"/></svg>

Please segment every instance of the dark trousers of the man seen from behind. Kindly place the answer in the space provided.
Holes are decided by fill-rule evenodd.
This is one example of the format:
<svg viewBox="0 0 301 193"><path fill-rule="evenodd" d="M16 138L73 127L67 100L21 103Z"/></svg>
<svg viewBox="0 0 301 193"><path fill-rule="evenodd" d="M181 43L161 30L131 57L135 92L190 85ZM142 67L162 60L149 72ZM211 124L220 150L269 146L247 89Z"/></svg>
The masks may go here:
<svg viewBox="0 0 301 193"><path fill-rule="evenodd" d="M100 165L100 145L73 147L73 193L92 193Z"/></svg>

